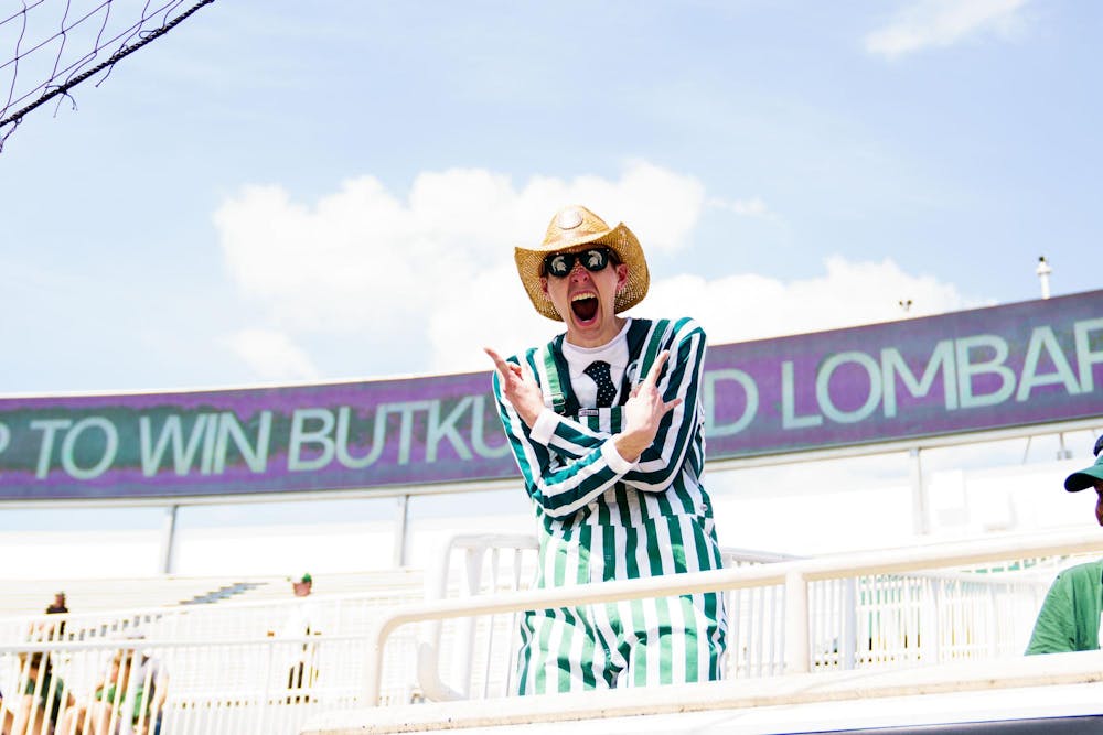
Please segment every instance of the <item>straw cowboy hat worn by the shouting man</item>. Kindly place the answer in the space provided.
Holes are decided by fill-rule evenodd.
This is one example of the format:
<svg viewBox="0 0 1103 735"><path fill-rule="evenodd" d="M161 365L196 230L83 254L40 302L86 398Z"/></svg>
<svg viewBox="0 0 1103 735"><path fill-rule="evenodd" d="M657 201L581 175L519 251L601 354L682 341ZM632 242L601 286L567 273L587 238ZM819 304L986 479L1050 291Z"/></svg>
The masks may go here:
<svg viewBox="0 0 1103 735"><path fill-rule="evenodd" d="M606 246L617 253L620 262L628 266L628 282L617 292L615 312L620 314L643 301L647 295L651 275L647 272L647 261L643 257L640 240L635 239L635 235L624 226L624 223L610 228L601 217L586 207L571 205L564 207L552 218L547 235L544 236L544 242L539 247L513 249L517 273L536 311L550 320L563 321L563 316L540 288L544 258L552 252L585 250L586 246L591 245Z"/></svg>

